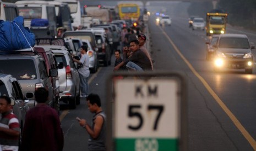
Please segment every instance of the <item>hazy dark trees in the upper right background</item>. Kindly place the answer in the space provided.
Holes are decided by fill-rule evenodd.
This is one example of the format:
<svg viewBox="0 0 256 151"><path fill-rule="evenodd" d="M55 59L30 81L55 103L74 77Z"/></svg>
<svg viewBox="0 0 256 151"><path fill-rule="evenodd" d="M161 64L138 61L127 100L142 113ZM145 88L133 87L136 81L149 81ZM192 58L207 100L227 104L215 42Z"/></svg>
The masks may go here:
<svg viewBox="0 0 256 151"><path fill-rule="evenodd" d="M192 2L188 7L188 14L205 19L206 13L212 9L212 2ZM219 0L216 9L228 14L228 24L256 30L256 0Z"/></svg>

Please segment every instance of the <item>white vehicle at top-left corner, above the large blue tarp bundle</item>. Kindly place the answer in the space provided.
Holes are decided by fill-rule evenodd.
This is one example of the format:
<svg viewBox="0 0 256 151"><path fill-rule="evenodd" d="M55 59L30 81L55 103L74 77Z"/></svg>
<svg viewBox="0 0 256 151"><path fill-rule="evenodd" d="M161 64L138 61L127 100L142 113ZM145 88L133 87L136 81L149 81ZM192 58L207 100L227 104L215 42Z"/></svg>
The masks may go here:
<svg viewBox="0 0 256 151"><path fill-rule="evenodd" d="M18 9L14 3L0 1L0 19L4 21L13 21L18 16Z"/></svg>

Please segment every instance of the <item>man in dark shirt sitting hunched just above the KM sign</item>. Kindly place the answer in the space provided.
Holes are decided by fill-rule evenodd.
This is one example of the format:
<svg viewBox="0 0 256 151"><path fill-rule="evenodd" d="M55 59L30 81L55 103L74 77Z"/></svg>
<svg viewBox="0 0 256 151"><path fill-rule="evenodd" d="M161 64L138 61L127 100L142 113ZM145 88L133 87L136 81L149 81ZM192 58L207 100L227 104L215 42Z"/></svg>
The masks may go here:
<svg viewBox="0 0 256 151"><path fill-rule="evenodd" d="M133 54L131 56L127 56L127 51L131 50ZM123 62L119 63L114 71L118 70L121 66L126 65L126 67L133 71L145 71L152 70L151 63L149 58L139 49L139 41L132 40L130 41L129 50L123 50Z"/></svg>

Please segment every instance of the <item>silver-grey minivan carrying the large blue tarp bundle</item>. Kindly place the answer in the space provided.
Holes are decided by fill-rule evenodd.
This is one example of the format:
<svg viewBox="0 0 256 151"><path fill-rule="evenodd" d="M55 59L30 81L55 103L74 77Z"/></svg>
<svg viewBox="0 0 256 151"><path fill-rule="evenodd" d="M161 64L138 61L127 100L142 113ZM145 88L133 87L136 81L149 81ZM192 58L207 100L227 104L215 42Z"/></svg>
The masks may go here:
<svg viewBox="0 0 256 151"><path fill-rule="evenodd" d="M29 53L25 50L8 52L10 54L0 55L0 73L11 74L18 79L24 94L34 93L37 88L46 88L49 91L46 103L58 111L58 107L55 107L55 95L50 79L58 75L57 69L49 69L49 75L47 75L45 60L39 54L31 54L31 50ZM1 53L4 52L1 51ZM35 97L29 98L29 107L32 108L35 104Z"/></svg>

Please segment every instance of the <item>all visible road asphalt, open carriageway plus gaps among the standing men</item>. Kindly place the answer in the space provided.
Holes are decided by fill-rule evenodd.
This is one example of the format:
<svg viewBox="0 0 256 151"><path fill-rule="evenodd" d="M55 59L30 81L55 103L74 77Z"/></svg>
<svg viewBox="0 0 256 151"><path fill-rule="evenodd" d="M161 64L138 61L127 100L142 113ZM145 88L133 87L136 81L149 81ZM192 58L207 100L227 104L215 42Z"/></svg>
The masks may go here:
<svg viewBox="0 0 256 151"><path fill-rule="evenodd" d="M242 70L215 73L211 62L205 59L208 39L205 32L188 28L187 18L169 15L173 24L164 28L155 24L154 16L150 17L151 53L156 70L178 71L187 79L189 150L254 150L255 67L253 74L245 74ZM236 31L236 28L228 28L228 32ZM254 34L248 37L256 42ZM255 51L253 54L255 56ZM90 92L100 95L105 110L105 80L112 73L113 60L112 56L112 65L101 67L90 78ZM62 108L62 113L66 113L62 119L64 150L87 150L88 134L75 120L80 117L91 121L92 114L85 99L77 109Z"/></svg>

